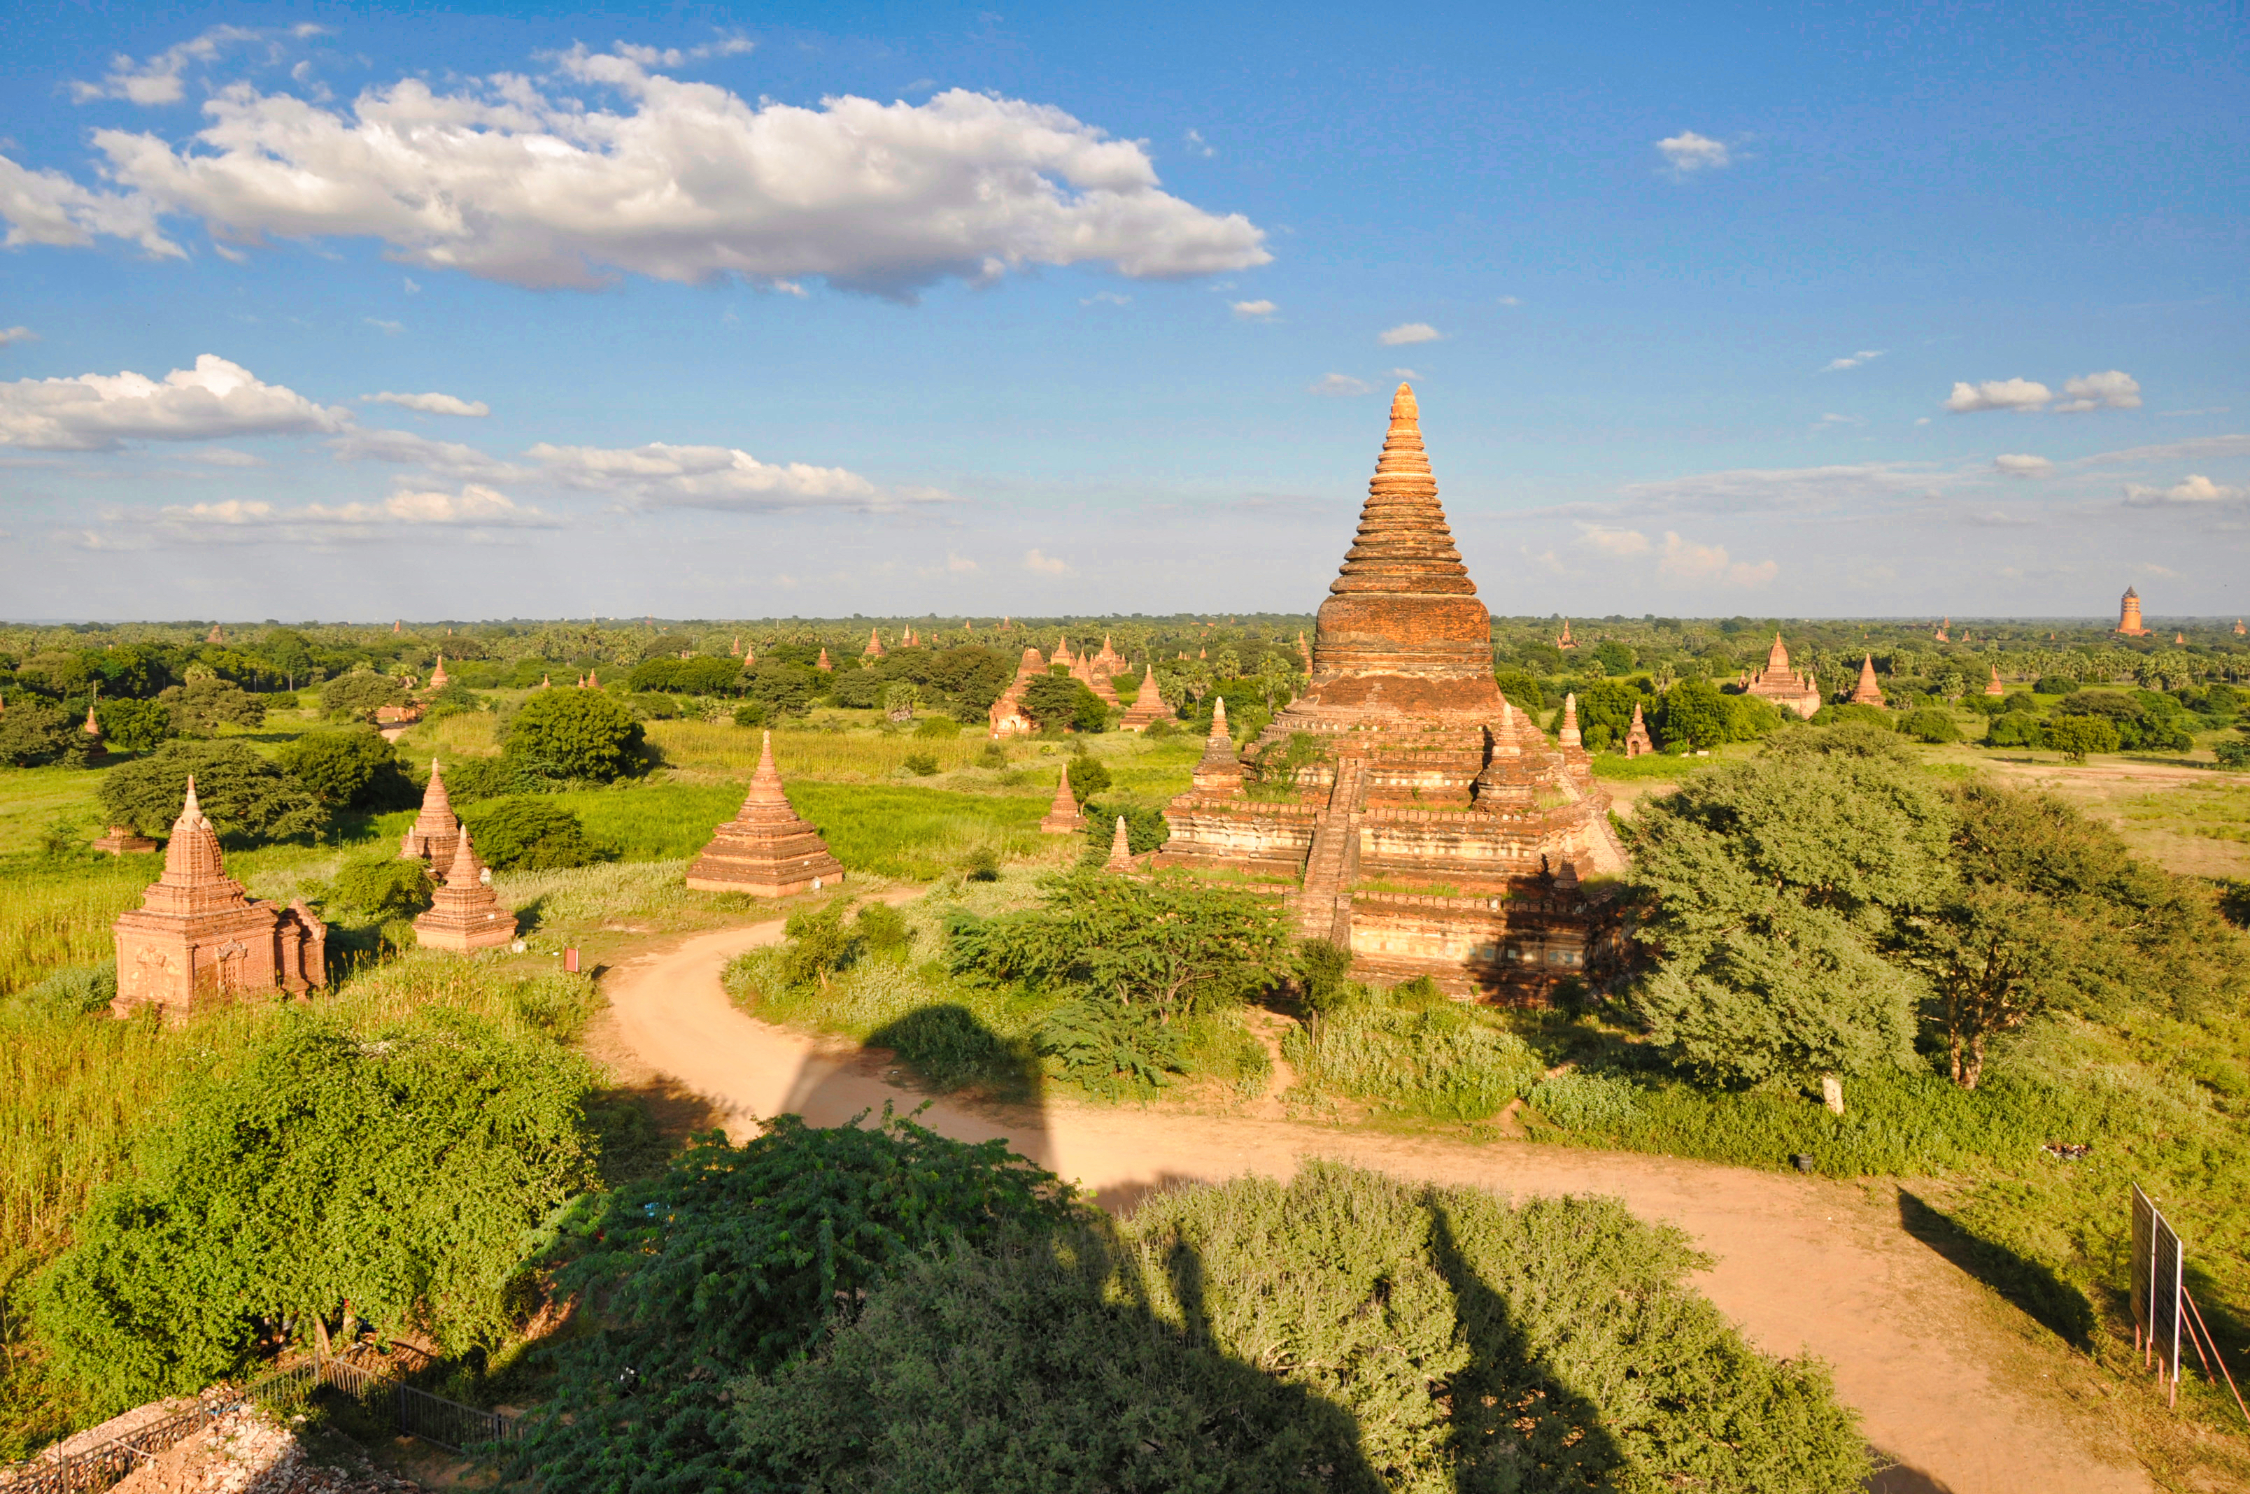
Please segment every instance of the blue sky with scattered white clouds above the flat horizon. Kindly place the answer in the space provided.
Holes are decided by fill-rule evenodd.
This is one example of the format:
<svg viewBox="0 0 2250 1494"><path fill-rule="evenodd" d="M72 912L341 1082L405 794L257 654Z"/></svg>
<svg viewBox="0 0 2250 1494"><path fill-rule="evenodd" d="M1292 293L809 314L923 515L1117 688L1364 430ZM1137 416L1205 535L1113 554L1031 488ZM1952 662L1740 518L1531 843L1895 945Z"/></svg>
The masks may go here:
<svg viewBox="0 0 2250 1494"><path fill-rule="evenodd" d="M2250 610L2239 7L9 27L7 616Z"/></svg>

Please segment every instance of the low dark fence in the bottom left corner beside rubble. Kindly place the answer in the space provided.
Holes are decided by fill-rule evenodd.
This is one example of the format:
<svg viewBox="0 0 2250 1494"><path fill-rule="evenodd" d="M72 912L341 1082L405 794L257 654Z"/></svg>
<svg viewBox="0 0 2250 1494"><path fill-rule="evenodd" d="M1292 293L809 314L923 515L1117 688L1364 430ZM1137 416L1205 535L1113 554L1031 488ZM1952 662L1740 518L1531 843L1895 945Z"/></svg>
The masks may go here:
<svg viewBox="0 0 2250 1494"><path fill-rule="evenodd" d="M515 1442L524 1436L524 1424L513 1415L479 1411L400 1384L394 1364L369 1366L317 1357L252 1379L236 1400L198 1402L83 1454L0 1467L0 1494L99 1494L144 1458L184 1442L232 1411L250 1404L277 1413L297 1411L320 1386L335 1386L376 1415L387 1415L398 1431L452 1451L484 1442Z"/></svg>

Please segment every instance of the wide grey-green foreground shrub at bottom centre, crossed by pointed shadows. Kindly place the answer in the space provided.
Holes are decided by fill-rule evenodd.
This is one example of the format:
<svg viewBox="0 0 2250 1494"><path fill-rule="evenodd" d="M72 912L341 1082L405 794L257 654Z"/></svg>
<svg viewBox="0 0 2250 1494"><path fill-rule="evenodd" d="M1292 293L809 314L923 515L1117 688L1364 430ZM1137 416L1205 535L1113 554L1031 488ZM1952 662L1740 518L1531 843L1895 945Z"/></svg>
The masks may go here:
<svg viewBox="0 0 2250 1494"><path fill-rule="evenodd" d="M1613 1199L1314 1161L902 1260L731 1386L729 1451L819 1490L1856 1487L1827 1370L1744 1343L1685 1285L1703 1264Z"/></svg>

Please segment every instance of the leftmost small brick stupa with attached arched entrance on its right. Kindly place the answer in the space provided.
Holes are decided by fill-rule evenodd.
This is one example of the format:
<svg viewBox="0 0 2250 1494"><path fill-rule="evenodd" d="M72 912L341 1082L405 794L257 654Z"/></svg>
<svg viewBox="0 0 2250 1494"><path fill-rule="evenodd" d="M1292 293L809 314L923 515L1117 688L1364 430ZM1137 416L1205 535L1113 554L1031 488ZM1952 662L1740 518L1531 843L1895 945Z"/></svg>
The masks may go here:
<svg viewBox="0 0 2250 1494"><path fill-rule="evenodd" d="M117 916L115 938L117 1017L155 1006L180 1019L238 994L328 983L328 925L304 900L279 907L227 875L194 778L171 821L164 875L142 893L142 907Z"/></svg>

